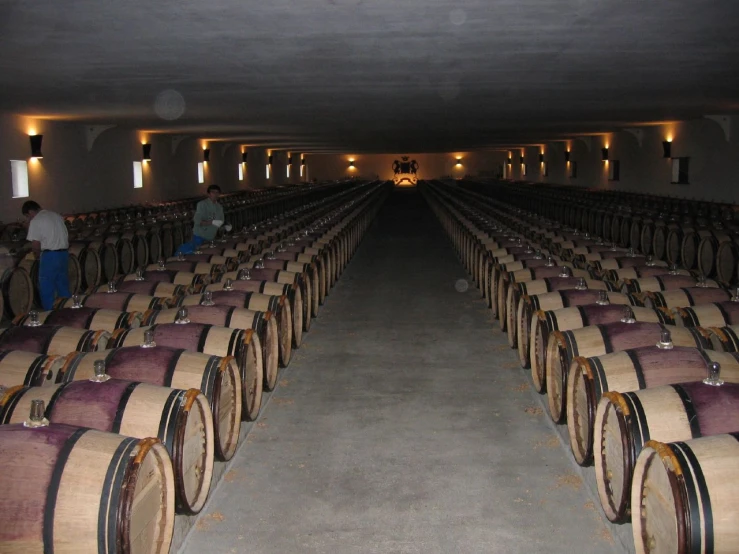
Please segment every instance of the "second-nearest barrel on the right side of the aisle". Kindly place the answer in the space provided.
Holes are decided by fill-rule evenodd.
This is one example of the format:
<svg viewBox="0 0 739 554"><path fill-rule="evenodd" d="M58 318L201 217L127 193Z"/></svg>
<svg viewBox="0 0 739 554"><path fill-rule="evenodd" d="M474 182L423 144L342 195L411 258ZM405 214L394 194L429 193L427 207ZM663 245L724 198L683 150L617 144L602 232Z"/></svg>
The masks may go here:
<svg viewBox="0 0 739 554"><path fill-rule="evenodd" d="M628 519L634 463L648 440L675 442L739 430L739 384L698 382L606 392L595 415L595 474L610 521Z"/></svg>

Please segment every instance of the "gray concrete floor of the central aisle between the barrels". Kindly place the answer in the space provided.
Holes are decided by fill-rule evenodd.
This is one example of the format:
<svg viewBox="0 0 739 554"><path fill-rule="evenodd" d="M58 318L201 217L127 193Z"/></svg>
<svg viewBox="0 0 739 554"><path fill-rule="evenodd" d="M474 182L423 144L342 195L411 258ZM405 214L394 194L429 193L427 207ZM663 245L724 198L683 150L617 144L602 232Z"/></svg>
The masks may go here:
<svg viewBox="0 0 739 554"><path fill-rule="evenodd" d="M466 279L394 193L181 551L631 550Z"/></svg>

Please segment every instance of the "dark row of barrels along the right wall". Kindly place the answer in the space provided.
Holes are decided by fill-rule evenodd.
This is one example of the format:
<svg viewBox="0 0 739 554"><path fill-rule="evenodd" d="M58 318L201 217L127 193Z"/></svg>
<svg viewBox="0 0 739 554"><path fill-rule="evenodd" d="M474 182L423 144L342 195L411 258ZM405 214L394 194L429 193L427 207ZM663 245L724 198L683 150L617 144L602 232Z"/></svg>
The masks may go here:
<svg viewBox="0 0 739 554"><path fill-rule="evenodd" d="M614 200L603 191L560 190L548 185L518 185L514 189L505 183L462 182L461 186L487 198L505 198L523 209L536 207L547 219L580 229L583 234L697 270L725 285L739 278L739 221L733 206L720 206L709 219L649 210L644 196L638 194ZM629 209L616 209L614 202L627 200Z"/></svg>

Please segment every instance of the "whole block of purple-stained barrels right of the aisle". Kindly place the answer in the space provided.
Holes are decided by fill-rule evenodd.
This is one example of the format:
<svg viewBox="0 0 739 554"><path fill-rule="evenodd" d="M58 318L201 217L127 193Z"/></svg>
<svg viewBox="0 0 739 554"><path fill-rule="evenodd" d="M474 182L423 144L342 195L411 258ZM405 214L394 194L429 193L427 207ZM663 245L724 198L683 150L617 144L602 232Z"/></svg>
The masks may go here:
<svg viewBox="0 0 739 554"><path fill-rule="evenodd" d="M507 289L500 325L549 415L567 424L575 460L594 464L608 519L632 521L638 552L735 552L739 297L633 254L577 268L547 248L572 259L576 245L522 232L536 228L531 214L439 185L425 194L483 296L481 259ZM622 269L650 276L613 279Z"/></svg>

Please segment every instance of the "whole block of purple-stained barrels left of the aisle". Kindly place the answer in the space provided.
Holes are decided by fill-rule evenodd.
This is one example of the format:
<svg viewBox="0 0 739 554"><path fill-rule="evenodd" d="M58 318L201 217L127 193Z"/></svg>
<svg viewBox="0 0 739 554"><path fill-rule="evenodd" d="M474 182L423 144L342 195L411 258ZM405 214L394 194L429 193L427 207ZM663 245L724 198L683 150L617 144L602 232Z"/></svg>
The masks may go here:
<svg viewBox="0 0 739 554"><path fill-rule="evenodd" d="M387 192L359 187L302 232L271 229L280 242L256 254L275 256L244 258L233 280L157 266L0 329L0 550L168 552L175 514L202 508L310 328L292 316L317 314L301 291L323 301ZM279 259L301 241L311 263Z"/></svg>

